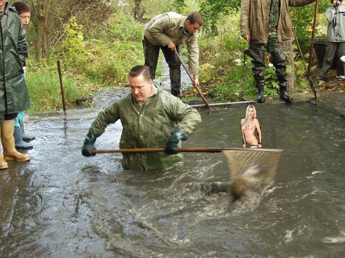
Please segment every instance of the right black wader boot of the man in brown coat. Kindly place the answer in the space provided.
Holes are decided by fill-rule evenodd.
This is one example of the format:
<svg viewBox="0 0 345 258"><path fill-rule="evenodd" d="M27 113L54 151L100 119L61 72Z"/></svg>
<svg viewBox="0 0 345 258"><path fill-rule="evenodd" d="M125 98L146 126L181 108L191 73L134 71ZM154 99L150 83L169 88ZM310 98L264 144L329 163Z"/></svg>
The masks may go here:
<svg viewBox="0 0 345 258"><path fill-rule="evenodd" d="M292 102L293 98L287 95L287 81L285 79L286 59L283 49L271 52L272 63L276 68L277 83L279 85L279 98L285 102Z"/></svg>

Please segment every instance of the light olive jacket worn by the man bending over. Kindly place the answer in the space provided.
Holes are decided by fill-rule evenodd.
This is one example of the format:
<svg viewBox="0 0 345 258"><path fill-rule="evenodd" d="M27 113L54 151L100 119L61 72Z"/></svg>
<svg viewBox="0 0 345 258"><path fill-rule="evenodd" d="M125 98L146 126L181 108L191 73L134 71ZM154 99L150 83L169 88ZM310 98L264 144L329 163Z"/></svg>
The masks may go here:
<svg viewBox="0 0 345 258"><path fill-rule="evenodd" d="M189 72L199 73L198 34L183 32L187 17L175 12L167 12L153 17L145 26L144 36L156 46L164 47L170 40L175 45L186 45L188 50Z"/></svg>

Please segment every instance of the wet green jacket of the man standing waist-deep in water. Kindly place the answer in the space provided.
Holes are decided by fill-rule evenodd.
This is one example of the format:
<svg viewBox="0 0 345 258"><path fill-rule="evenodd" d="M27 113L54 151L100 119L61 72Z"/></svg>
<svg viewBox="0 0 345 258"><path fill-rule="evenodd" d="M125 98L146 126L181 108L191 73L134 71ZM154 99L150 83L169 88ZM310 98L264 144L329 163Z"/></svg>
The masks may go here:
<svg viewBox="0 0 345 258"><path fill-rule="evenodd" d="M90 131L101 135L108 124L119 119L123 126L120 148L165 147L176 126L188 137L201 122L198 111L160 87L143 102L142 109L131 93L108 105L92 122ZM182 163L181 153L123 154L125 169L164 169Z"/></svg>

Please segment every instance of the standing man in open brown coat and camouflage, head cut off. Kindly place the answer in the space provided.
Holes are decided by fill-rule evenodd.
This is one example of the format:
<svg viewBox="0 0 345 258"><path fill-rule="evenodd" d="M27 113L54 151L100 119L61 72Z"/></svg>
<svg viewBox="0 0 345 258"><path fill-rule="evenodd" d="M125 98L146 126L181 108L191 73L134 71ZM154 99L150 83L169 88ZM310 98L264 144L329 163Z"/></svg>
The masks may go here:
<svg viewBox="0 0 345 258"><path fill-rule="evenodd" d="M252 70L258 88L257 102L265 102L263 90L265 51L271 54L271 61L276 68L280 99L285 102L293 100L286 91L286 59L282 49L282 41L294 37L289 6L304 6L314 1L242 0L241 36L249 43L249 49L245 53L252 57Z"/></svg>

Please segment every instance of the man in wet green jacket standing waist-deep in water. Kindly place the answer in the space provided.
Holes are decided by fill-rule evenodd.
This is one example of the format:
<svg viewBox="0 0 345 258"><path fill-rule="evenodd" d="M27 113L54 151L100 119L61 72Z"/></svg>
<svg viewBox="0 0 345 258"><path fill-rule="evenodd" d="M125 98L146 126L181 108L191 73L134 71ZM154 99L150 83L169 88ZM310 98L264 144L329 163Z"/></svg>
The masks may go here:
<svg viewBox="0 0 345 258"><path fill-rule="evenodd" d="M162 90L152 81L147 66L129 72L131 93L105 107L91 123L82 154L91 156L94 142L105 128L121 120L120 148L156 148L165 153L123 153L125 169L165 169L183 163L178 153L180 140L186 140L201 122L200 114L179 98Z"/></svg>

